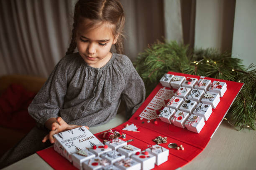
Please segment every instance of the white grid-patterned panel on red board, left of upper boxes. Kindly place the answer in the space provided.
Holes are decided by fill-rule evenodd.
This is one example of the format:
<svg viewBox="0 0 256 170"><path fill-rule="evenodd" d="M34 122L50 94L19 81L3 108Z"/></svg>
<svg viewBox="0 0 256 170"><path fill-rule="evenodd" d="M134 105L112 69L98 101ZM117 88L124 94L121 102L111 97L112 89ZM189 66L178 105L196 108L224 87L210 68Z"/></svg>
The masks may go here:
<svg viewBox="0 0 256 170"><path fill-rule="evenodd" d="M168 90L165 87L161 88L139 116L147 120L158 118L157 111L164 107L166 105L165 100L168 100L173 95L173 90Z"/></svg>

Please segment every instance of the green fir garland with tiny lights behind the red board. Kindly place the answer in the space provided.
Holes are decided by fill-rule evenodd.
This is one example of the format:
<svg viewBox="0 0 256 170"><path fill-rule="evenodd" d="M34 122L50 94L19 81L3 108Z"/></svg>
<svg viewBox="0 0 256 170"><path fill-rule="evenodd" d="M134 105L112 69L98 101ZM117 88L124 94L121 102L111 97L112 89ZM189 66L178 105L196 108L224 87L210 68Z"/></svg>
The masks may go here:
<svg viewBox="0 0 256 170"><path fill-rule="evenodd" d="M157 41L138 54L133 64L145 83L146 95L168 71L243 82L227 117L238 130L256 129L256 65L245 69L242 60L230 53L220 54L213 48L189 51L188 46L175 41Z"/></svg>

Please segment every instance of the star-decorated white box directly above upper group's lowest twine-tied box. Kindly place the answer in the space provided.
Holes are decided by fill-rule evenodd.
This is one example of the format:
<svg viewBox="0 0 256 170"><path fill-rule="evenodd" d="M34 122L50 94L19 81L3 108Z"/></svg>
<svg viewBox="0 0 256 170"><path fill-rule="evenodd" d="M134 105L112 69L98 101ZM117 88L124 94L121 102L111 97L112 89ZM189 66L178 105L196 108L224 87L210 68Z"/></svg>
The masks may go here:
<svg viewBox="0 0 256 170"><path fill-rule="evenodd" d="M193 114L204 117L204 119L207 121L212 114L212 105L198 103L197 107L193 111Z"/></svg>

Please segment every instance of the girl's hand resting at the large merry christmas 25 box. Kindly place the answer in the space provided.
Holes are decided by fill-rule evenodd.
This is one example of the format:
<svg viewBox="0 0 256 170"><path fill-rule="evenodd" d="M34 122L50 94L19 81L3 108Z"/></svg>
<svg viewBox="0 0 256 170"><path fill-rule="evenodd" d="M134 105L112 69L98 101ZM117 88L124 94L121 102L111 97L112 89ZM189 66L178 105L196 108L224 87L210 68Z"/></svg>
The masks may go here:
<svg viewBox="0 0 256 170"><path fill-rule="evenodd" d="M52 122L51 123L51 131L49 132L48 135L46 135L44 137L44 139L42 140L43 143L45 143L46 140L48 140L48 139L50 140L51 143L54 143L55 142L55 138L53 137L54 134L81 127L80 125L69 125L61 117L57 117L56 121L54 119L55 118L51 118L51 120L49 120L49 122ZM49 122L48 123L46 122L46 124L49 124ZM87 126L85 126L85 127L87 129L89 129L89 127L87 127Z"/></svg>

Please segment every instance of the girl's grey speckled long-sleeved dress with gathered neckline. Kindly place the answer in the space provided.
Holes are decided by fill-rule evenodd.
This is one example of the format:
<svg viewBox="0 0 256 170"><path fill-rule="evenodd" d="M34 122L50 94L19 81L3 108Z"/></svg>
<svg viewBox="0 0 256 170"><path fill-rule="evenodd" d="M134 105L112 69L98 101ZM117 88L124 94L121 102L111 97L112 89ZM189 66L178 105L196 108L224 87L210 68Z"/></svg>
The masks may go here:
<svg viewBox="0 0 256 170"><path fill-rule="evenodd" d="M49 142L42 145L41 140L49 132L44 123L51 117L60 116L74 125L102 125L115 117L121 100L130 117L144 98L144 83L127 56L113 53L106 65L94 68L79 53L67 55L28 107L38 126L1 158L0 167L3 161L14 163L49 146ZM24 148L30 144L33 147Z"/></svg>

